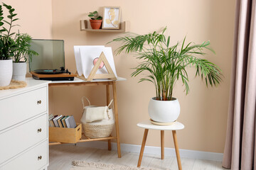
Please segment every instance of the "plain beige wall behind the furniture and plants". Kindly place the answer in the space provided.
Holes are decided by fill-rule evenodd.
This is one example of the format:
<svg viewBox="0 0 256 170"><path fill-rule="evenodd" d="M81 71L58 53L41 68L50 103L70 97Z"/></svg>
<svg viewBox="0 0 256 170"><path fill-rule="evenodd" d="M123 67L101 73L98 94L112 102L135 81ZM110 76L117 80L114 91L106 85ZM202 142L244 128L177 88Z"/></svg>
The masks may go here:
<svg viewBox="0 0 256 170"><path fill-rule="evenodd" d="M206 88L199 78L194 78L194 69L189 68L191 92L187 96L183 86L176 84L175 94L181 104L178 121L186 128L178 131L181 149L206 152L223 152L225 128L228 112L230 86L230 63L233 47L233 26L235 1L228 0L141 0L141 1L8 1L16 7L21 32L33 38L54 38L65 40L66 67L75 71L73 45L105 45L119 33L86 33L80 31L80 19L86 13L98 10L101 6L121 6L122 20L131 22L134 33L149 33L168 27L171 42L181 40L185 35L188 41L200 43L210 40L216 55L208 59L223 69L225 79L217 88ZM157 3L156 3L157 2ZM110 44L114 49L117 44ZM140 145L143 130L137 128L139 121L149 119L147 105L154 96L154 86L149 83L137 84L139 77L131 78L132 67L138 63L132 55L114 56L117 74L127 81L117 84L119 108L119 129L121 142ZM50 113L73 114L80 120L82 103L80 98L87 96L93 104L105 104L105 87L55 87L50 89ZM146 145L160 146L160 133L150 131ZM166 132L166 147L174 147L171 132Z"/></svg>

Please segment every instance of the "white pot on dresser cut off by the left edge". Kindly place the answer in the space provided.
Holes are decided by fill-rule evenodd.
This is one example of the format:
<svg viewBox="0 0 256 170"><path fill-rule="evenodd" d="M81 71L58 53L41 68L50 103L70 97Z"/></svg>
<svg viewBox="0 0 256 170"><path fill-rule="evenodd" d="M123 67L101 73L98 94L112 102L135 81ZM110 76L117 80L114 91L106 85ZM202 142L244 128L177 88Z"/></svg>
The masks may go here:
<svg viewBox="0 0 256 170"><path fill-rule="evenodd" d="M0 86L11 83L12 72L12 60L0 60Z"/></svg>

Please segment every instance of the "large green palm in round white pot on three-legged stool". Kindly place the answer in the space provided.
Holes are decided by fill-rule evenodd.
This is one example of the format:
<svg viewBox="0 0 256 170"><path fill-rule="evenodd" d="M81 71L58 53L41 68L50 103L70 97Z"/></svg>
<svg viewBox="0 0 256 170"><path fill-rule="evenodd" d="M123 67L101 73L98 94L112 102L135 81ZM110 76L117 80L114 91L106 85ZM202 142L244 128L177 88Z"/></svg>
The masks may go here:
<svg viewBox="0 0 256 170"><path fill-rule="evenodd" d="M216 86L220 84L222 74L220 68L202 59L206 55L203 50L210 50L210 42L194 44L189 42L185 45L186 38L182 43L170 45L170 36L162 33L149 33L146 35L128 34L124 37L115 38L112 42L121 42L117 48L117 55L124 51L133 53L142 62L134 68L132 77L144 72L149 73L139 80L150 81L154 84L156 96L149 101L149 116L151 120L161 123L174 122L180 113L178 99L174 98L174 85L181 80L185 86L186 94L189 92L187 67L196 67L196 76L201 77L206 82L206 86Z"/></svg>

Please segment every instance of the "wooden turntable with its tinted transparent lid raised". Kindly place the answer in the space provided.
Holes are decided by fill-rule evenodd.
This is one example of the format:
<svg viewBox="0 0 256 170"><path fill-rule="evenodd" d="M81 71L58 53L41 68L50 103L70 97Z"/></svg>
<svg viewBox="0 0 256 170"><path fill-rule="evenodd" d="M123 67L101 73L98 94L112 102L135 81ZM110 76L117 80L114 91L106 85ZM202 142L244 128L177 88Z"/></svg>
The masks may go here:
<svg viewBox="0 0 256 170"><path fill-rule="evenodd" d="M64 40L33 39L30 49L38 52L38 56L30 56L29 70L34 79L73 81L76 74L65 69Z"/></svg>

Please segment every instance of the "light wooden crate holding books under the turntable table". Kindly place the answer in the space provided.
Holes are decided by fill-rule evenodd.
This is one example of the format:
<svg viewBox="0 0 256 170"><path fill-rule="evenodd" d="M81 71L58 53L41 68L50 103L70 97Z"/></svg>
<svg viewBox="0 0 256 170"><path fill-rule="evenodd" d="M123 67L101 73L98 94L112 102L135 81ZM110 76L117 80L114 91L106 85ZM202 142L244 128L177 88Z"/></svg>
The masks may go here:
<svg viewBox="0 0 256 170"><path fill-rule="evenodd" d="M76 143L82 137L82 124L76 128L49 127L49 142Z"/></svg>

